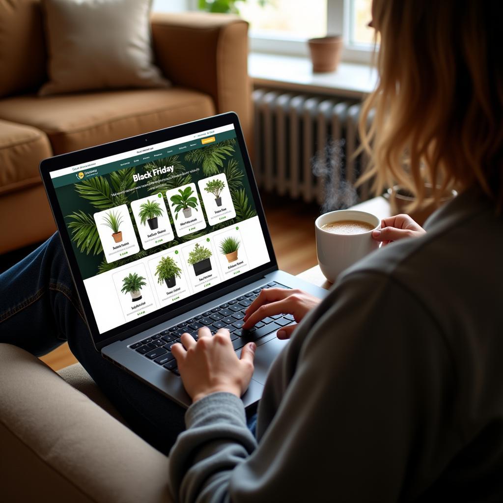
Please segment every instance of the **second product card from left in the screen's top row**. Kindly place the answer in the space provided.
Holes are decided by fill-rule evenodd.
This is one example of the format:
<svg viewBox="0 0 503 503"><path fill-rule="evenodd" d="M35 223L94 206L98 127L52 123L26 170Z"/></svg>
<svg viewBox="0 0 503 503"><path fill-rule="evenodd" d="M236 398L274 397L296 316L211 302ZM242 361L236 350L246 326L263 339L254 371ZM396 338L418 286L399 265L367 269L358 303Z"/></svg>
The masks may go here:
<svg viewBox="0 0 503 503"><path fill-rule="evenodd" d="M175 238L160 192L154 196L132 201L131 210L144 249L167 243Z"/></svg>

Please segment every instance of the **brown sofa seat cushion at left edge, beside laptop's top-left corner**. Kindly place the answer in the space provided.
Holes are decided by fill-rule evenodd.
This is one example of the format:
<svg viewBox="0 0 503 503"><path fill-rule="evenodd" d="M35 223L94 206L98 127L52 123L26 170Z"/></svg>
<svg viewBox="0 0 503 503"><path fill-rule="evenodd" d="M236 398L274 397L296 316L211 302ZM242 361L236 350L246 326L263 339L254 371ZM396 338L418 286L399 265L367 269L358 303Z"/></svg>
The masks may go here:
<svg viewBox="0 0 503 503"><path fill-rule="evenodd" d="M0 120L0 194L40 184L38 164L51 155L45 133Z"/></svg>

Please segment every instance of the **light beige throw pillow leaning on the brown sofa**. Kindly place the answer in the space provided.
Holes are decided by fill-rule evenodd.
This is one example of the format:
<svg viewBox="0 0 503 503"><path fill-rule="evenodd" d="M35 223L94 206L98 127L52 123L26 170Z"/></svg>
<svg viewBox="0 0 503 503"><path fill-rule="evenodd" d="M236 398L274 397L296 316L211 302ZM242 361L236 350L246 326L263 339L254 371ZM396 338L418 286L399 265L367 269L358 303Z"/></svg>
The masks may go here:
<svg viewBox="0 0 503 503"><path fill-rule="evenodd" d="M42 0L49 82L41 96L166 87L153 64L151 0Z"/></svg>

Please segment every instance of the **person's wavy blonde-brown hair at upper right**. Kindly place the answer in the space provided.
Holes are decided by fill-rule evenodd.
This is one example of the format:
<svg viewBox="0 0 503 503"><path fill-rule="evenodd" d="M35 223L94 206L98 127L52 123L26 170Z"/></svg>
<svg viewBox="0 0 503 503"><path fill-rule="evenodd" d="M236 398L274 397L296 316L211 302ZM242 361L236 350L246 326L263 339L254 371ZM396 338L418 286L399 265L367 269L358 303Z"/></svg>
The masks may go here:
<svg viewBox="0 0 503 503"><path fill-rule="evenodd" d="M374 0L380 76L360 120L361 182L399 184L418 202L425 183L437 198L478 184L501 209L502 20L501 0Z"/></svg>

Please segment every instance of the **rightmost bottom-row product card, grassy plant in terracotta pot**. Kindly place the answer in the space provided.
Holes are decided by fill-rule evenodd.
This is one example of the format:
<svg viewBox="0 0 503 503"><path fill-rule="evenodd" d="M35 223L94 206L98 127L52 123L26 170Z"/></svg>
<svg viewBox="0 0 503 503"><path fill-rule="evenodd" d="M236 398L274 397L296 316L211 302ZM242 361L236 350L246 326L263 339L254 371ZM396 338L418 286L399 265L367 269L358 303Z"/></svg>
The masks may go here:
<svg viewBox="0 0 503 503"><path fill-rule="evenodd" d="M213 239L224 280L244 273L249 269L248 258L238 225L215 234Z"/></svg>

